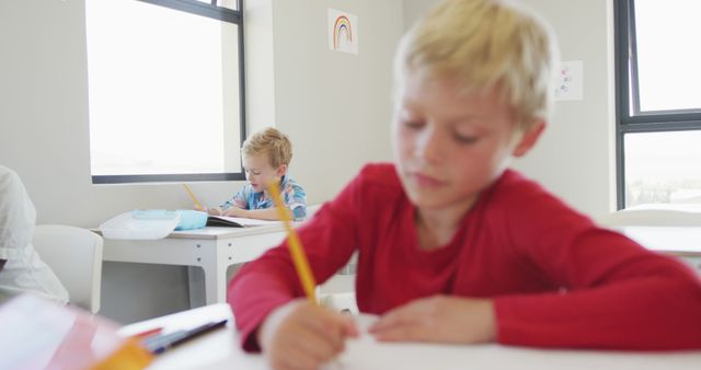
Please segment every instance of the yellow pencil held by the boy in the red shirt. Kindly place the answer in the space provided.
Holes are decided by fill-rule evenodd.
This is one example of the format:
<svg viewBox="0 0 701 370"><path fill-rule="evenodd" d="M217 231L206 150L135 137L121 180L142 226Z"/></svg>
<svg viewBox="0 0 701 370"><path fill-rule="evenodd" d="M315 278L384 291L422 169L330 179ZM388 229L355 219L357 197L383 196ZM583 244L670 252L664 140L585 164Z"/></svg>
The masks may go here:
<svg viewBox="0 0 701 370"><path fill-rule="evenodd" d="M271 182L267 185L267 190L273 197L273 201L275 203L275 208L277 208L277 213L279 215L280 220L285 223L285 229L287 230L287 245L289 246L289 253L292 256L295 269L297 270L299 280L302 284L302 289L304 289L307 298L309 298L313 303L317 303L317 298L314 297L317 282L314 281L314 276L311 274L309 261L307 261L307 255L302 248L302 243L299 241L299 236L290 223L289 211L280 198L280 189L275 182Z"/></svg>

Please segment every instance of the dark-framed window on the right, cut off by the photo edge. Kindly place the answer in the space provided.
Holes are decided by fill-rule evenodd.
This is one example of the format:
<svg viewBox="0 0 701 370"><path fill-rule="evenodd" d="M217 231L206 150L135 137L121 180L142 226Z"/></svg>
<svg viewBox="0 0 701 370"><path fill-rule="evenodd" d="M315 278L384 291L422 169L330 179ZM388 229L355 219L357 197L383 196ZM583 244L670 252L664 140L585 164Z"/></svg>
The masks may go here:
<svg viewBox="0 0 701 370"><path fill-rule="evenodd" d="M614 12L618 207L701 205L701 1Z"/></svg>

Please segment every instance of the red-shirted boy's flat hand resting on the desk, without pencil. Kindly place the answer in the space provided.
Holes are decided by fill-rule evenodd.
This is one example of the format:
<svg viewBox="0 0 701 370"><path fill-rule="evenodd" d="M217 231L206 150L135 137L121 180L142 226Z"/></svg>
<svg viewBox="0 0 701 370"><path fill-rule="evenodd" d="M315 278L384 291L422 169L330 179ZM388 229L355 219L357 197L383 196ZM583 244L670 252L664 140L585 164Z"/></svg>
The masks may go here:
<svg viewBox="0 0 701 370"><path fill-rule="evenodd" d="M369 328L378 340L475 344L496 337L489 299L434 296L387 312Z"/></svg>

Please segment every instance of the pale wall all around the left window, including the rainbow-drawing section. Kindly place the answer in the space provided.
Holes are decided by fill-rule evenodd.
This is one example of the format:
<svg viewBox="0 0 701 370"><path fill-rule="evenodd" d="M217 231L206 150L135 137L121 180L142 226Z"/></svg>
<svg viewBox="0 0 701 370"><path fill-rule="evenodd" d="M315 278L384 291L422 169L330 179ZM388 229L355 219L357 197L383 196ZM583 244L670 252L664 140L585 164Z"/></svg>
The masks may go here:
<svg viewBox="0 0 701 370"><path fill-rule="evenodd" d="M246 83L251 128L275 122L295 143L292 175L310 203L335 195L367 161L389 160L390 65L400 0L251 0ZM333 53L326 9L359 22L359 55ZM272 27L272 30L271 30ZM136 208L188 208L179 184L95 186L90 180L82 0L0 2L0 163L24 180L39 223L96 227ZM267 58L267 62L265 62ZM273 91L271 91L273 90ZM198 183L218 204L242 183ZM185 269L105 264L101 313L122 322L182 310Z"/></svg>

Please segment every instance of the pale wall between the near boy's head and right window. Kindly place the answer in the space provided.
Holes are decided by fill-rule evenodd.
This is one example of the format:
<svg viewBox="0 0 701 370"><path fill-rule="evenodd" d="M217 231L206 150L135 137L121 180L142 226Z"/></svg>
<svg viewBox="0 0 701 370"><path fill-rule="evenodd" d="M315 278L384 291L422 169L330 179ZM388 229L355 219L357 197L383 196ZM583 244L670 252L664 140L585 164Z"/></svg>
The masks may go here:
<svg viewBox="0 0 701 370"><path fill-rule="evenodd" d="M405 0L409 27L438 0ZM611 0L520 0L555 30L562 60L584 62L584 100L562 101L536 148L514 163L575 208L614 209L613 50Z"/></svg>

